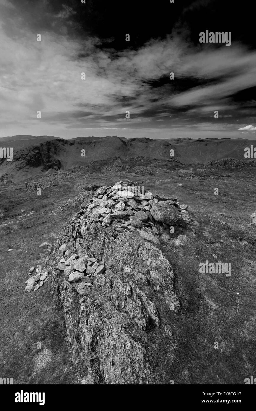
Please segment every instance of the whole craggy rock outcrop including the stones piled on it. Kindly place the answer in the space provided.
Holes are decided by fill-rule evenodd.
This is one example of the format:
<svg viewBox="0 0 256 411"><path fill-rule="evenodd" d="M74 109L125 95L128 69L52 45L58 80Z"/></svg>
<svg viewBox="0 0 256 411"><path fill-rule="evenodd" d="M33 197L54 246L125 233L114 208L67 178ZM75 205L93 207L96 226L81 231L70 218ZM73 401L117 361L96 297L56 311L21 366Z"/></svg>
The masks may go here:
<svg viewBox="0 0 256 411"><path fill-rule="evenodd" d="M119 197L113 187L100 187L87 208L68 222L65 234L51 247L46 262L48 285L56 304L64 309L71 357L85 383L154 383L148 346L157 338L157 332L171 334L164 313L177 315L180 310L173 268L161 251L160 234L165 227L152 216L149 219L150 204L138 199L138 192L131 199L131 192L125 189L129 194L121 193ZM111 196L108 190L112 190ZM158 201L152 193L148 196ZM142 201L143 206L139 205ZM108 215L112 216L125 210L134 214L138 211L136 216L128 216L142 225L147 213L152 226L143 225L141 229L132 225L131 230L120 224L124 230L118 231L117 223L127 214L113 216L115 224L108 224L104 222L105 210L91 218L90 210L95 207L109 208ZM177 203L177 213L178 209Z"/></svg>

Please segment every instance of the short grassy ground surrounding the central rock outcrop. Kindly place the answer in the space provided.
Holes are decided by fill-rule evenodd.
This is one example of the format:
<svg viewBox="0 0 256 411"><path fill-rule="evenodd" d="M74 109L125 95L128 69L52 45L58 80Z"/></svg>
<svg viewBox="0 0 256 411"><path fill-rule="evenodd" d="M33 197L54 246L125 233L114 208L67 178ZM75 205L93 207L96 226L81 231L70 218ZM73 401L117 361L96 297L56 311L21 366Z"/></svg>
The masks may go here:
<svg viewBox="0 0 256 411"><path fill-rule="evenodd" d="M59 205L74 198L79 186L111 184L125 177L143 181L153 192L177 196L194 212L191 229L180 231L187 237L182 239L184 245L175 244L179 233L162 244L174 268L182 310L178 316L162 313L173 338L161 337L148 347L159 382L243 384L255 375L256 234L248 226L249 215L256 209L254 175L206 170L190 178L192 169L164 171L158 164L150 174L143 169L138 174L114 169L108 175L90 172L90 177L81 169L75 174L74 169L73 175L64 173L58 180L45 177L53 187L43 189L41 196L26 191L25 185L0 187L5 193L0 208L5 207L7 217L0 220L5 234L0 238L0 305L5 313L0 319L2 377L13 378L14 383L79 383L69 363L61 313L53 309L46 286L24 292L27 272L46 253L39 245L53 241L78 209L71 205L58 212ZM214 196L215 187L219 196ZM28 216L33 210L35 216ZM14 251L8 252L10 247ZM218 261L213 254L232 263L231 277L199 274L200 262ZM36 349L38 341L41 350ZM219 349L214 349L216 341Z"/></svg>

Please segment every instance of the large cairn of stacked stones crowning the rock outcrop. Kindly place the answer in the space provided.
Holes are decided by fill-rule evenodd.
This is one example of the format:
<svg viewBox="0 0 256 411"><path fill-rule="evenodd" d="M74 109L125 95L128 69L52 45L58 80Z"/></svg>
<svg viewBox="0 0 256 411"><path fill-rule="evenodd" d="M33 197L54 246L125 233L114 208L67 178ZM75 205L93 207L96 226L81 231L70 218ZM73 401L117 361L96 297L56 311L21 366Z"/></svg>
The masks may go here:
<svg viewBox="0 0 256 411"><path fill-rule="evenodd" d="M152 234L160 234L159 225L173 233L177 226L191 223L187 205L180 205L174 198L143 192L130 180L97 189L92 198L81 204L83 208L72 220L74 239L83 235L93 222L100 222L119 233L137 230L143 238L158 244Z"/></svg>

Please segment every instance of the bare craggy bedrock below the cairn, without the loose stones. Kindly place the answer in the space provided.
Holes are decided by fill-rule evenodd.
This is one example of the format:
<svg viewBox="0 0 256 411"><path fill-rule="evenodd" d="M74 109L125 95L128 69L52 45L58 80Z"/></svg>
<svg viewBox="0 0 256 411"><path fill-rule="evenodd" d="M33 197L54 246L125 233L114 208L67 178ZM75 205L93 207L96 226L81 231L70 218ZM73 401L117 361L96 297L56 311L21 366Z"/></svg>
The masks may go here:
<svg viewBox="0 0 256 411"><path fill-rule="evenodd" d="M58 250L64 243L67 247ZM91 276L89 295L81 296L68 281L71 271L64 276L65 264L58 265L67 248L83 258L85 266L90 258L105 261L105 271ZM64 309L71 357L81 379L88 384L154 383L147 348L156 330L168 329L161 311L176 315L180 309L173 269L161 245L146 241L136 230L117 233L100 222L74 240L69 222L65 235L51 247L46 266L51 294Z"/></svg>

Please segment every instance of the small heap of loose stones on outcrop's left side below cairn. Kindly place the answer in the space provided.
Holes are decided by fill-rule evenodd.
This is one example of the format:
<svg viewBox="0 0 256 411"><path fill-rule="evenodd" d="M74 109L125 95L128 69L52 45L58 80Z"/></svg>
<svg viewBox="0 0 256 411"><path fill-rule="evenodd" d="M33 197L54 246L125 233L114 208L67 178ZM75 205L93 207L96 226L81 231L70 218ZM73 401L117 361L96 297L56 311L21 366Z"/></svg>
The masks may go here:
<svg viewBox="0 0 256 411"><path fill-rule="evenodd" d="M79 294L90 294L94 277L105 271L105 261L97 261L96 258L88 258L88 261L85 258L77 258L78 255L72 254L66 243L60 246L59 251L64 256L59 261L58 269L64 271L64 277Z"/></svg>

